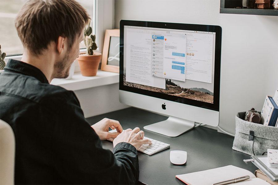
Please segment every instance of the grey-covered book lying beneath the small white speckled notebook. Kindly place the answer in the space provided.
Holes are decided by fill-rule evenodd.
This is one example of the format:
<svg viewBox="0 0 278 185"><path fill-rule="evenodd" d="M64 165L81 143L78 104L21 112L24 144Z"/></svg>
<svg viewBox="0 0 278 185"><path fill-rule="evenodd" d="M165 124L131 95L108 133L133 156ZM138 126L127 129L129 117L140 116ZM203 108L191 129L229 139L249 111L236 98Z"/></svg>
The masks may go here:
<svg viewBox="0 0 278 185"><path fill-rule="evenodd" d="M254 161L253 164L256 165L269 179L272 181L278 182L278 168L272 168L270 167L268 160L267 160L267 155L254 155L251 156Z"/></svg>

